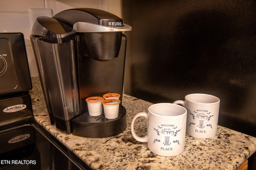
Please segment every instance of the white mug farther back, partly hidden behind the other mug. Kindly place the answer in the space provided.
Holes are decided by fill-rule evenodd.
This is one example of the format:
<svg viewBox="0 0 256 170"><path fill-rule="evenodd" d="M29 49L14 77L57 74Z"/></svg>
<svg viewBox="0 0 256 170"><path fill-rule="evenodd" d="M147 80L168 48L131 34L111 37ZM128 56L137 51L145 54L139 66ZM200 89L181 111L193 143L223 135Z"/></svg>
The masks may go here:
<svg viewBox="0 0 256 170"><path fill-rule="evenodd" d="M176 100L187 111L186 134L207 139L217 133L220 99L210 94L188 94L185 100Z"/></svg>

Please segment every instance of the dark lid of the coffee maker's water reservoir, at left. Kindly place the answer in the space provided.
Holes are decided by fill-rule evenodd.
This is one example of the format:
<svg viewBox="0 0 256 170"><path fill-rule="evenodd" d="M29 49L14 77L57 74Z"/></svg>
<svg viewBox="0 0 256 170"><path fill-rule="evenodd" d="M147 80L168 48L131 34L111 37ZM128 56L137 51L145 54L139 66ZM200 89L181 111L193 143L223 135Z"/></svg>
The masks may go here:
<svg viewBox="0 0 256 170"><path fill-rule="evenodd" d="M43 37L64 38L76 33L76 30L54 18L40 16L36 18L31 33Z"/></svg>

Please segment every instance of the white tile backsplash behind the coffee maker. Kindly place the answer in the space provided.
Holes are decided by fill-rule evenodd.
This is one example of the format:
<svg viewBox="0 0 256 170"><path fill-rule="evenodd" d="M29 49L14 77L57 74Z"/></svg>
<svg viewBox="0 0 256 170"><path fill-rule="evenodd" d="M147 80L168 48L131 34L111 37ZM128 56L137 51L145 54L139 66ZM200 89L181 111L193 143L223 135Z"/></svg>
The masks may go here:
<svg viewBox="0 0 256 170"><path fill-rule="evenodd" d="M121 17L121 2L122 0L0 0L0 32L23 33L30 75L36 77L38 71L30 33L38 16L52 16L70 8L97 8Z"/></svg>

